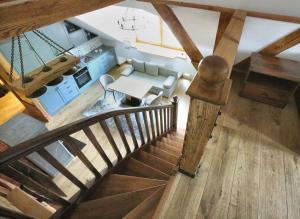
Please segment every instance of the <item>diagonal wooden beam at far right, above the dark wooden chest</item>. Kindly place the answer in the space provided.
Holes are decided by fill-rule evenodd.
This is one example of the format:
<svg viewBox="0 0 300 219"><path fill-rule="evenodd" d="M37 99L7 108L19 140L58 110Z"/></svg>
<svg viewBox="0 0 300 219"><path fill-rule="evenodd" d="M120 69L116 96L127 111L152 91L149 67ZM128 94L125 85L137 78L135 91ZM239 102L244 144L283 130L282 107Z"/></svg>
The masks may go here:
<svg viewBox="0 0 300 219"><path fill-rule="evenodd" d="M276 56L279 53L296 46L300 43L300 28L294 30L293 32L281 37L280 39L274 41L273 43L267 45L263 49L259 50L258 53L270 56ZM246 68L250 63L250 56L242 60L235 66L237 68Z"/></svg>

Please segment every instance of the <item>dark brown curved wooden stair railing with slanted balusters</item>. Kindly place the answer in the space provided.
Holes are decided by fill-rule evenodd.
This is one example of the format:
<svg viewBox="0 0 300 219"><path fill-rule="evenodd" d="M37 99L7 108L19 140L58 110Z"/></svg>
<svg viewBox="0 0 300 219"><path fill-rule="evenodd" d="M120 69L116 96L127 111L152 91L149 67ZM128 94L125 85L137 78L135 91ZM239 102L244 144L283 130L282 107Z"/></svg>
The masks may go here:
<svg viewBox="0 0 300 219"><path fill-rule="evenodd" d="M62 165L56 157L48 152L45 147L56 141L63 142L63 145L74 155L76 155L81 162L89 169L95 176L94 185L101 181L103 176L125 160L130 158L133 154L138 152L144 147L147 147L156 140L167 135L170 131L176 129L177 125L177 98L174 98L172 104L159 105L159 106L147 106L147 107L136 107L126 108L109 111L100 115L91 116L88 118L81 119L63 127L54 129L45 134L39 135L28 141L20 143L15 147L9 148L7 151L0 153L0 172L9 178L19 182L28 192L37 197L39 200L46 201L48 203L54 203L60 205L61 208L52 216L52 218L61 217L66 211L72 209L76 203L82 200L91 188L88 188L82 181L80 181L68 168ZM120 151L120 145L117 145L113 134L108 126L108 119L113 120L114 127L120 135L122 140L122 147L125 147L126 153L123 154ZM136 128L134 129L134 124ZM108 139L114 153L117 157L117 162L114 164L100 142L97 140L96 135L91 129L91 126L100 124L105 136ZM127 134L124 129L127 128ZM91 163L91 160L79 149L74 142L72 134L83 131L87 139L92 143L93 147L102 157L103 161L107 165L108 171L105 174L101 174L99 170ZM129 134L130 133L130 134ZM146 133L144 135L144 133ZM134 149L129 147L127 138L132 140ZM137 140L139 136L139 141ZM47 147L47 149L48 149ZM63 195L57 194L57 192L51 187L46 187L39 181L36 181L34 177L31 177L30 172L34 171L30 166L24 162L20 162L22 158L32 154L38 153L44 160L46 160L51 166L53 166L60 174L64 175L73 184L79 187L80 191L74 195L70 200L67 200ZM23 165L21 171L15 164ZM5 214L12 214L11 211L5 212L5 209L0 209ZM20 213L14 215L16 218L19 217ZM26 215L24 215L25 217Z"/></svg>

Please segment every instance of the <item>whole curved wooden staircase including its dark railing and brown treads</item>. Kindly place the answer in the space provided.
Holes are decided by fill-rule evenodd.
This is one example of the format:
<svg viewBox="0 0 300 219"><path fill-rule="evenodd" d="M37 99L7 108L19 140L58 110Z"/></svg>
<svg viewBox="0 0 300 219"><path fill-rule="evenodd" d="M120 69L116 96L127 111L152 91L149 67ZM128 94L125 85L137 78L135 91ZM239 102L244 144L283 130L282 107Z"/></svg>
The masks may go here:
<svg viewBox="0 0 300 219"><path fill-rule="evenodd" d="M184 131L177 129L176 100L169 105L113 110L49 131L0 153L0 173L21 185L36 201L55 206L51 219L151 218L157 214L182 153ZM99 128L95 130L96 125ZM80 139L74 133L78 132L82 133L80 139L88 139L104 166L95 165L76 145L74 140ZM107 139L105 145L99 136ZM83 164L76 171L93 174L89 185L47 151L56 141ZM115 158L109 156L108 148ZM32 153L67 178L77 192L67 196L50 176L21 162ZM7 208L0 208L0 216L39 218Z"/></svg>

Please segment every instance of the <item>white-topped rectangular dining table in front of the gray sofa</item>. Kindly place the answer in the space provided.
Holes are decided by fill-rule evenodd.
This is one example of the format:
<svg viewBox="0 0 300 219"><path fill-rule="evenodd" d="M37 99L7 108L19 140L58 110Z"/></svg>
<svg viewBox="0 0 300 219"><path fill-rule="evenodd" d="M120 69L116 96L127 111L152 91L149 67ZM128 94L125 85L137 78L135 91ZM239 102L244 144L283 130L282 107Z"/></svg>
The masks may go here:
<svg viewBox="0 0 300 219"><path fill-rule="evenodd" d="M143 97L152 88L152 85L144 81L135 80L128 77L120 77L115 82L110 84L108 88L125 94L126 104L138 106L141 104Z"/></svg>

